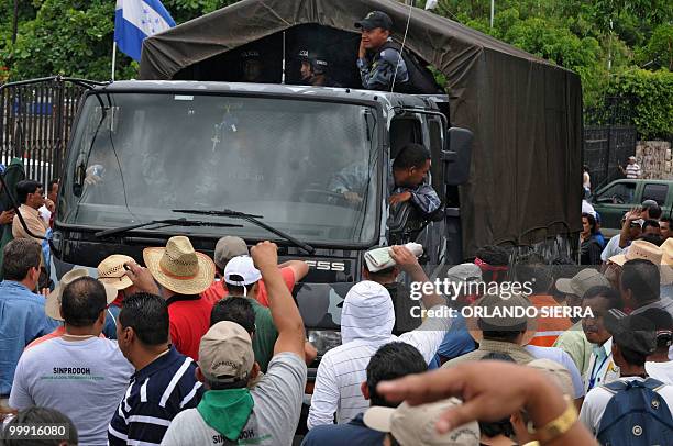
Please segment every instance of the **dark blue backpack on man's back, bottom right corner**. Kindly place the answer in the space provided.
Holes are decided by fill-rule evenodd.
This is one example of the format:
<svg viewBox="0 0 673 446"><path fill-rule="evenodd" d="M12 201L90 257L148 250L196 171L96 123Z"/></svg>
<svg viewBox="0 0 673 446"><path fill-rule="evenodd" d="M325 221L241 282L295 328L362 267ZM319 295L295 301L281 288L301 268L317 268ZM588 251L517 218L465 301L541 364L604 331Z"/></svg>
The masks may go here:
<svg viewBox="0 0 673 446"><path fill-rule="evenodd" d="M655 392L663 382L617 380L603 386L613 393L596 438L604 446L670 445L673 419L666 402Z"/></svg>

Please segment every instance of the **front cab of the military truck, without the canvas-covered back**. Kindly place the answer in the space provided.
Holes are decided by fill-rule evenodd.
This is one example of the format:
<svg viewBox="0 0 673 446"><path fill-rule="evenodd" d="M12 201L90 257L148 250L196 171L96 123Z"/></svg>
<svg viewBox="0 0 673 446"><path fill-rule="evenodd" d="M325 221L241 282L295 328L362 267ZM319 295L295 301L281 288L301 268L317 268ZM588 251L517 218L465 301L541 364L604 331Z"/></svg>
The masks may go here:
<svg viewBox="0 0 673 446"><path fill-rule="evenodd" d="M423 263L462 258L457 183L471 134L449 127L442 97L351 89L195 81L120 81L89 90L70 142L52 239L62 261L188 235L212 253L223 235L273 239L310 268L296 290L308 327L338 328L340 300L361 279L363 252L422 243ZM388 213L390 164L426 143L443 211L406 203ZM351 202L334 181L365 176ZM346 174L344 174L346 172ZM452 201L453 200L453 201Z"/></svg>

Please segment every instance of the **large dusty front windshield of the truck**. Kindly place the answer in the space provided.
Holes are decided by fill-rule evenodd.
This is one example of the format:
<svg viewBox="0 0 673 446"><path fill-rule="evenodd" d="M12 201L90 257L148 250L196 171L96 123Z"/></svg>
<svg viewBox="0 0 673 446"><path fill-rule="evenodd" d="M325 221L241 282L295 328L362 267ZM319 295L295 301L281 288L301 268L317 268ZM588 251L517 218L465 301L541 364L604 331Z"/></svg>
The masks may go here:
<svg viewBox="0 0 673 446"><path fill-rule="evenodd" d="M58 220L106 228L185 216L176 209L232 209L262 215L307 243L367 243L382 193L375 109L361 104L89 96L66 161ZM243 224L228 235L275 238L224 216L199 220ZM143 231L221 233L208 226Z"/></svg>

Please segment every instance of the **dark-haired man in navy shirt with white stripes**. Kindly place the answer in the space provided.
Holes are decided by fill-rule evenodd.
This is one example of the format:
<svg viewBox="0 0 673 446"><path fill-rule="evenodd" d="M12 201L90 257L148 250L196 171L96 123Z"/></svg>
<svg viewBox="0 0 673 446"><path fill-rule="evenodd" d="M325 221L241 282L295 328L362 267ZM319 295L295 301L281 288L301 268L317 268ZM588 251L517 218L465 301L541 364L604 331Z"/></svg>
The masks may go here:
<svg viewBox="0 0 673 446"><path fill-rule="evenodd" d="M196 364L169 346L168 306L158 296L124 300L117 339L135 373L110 422L108 441L111 446L159 445L170 421L201 399Z"/></svg>

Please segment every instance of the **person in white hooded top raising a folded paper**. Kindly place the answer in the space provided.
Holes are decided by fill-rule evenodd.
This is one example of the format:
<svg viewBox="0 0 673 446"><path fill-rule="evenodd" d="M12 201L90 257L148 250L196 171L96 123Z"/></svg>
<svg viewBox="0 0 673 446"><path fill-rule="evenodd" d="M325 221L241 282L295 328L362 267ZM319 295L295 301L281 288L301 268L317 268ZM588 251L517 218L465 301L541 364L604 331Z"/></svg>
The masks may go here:
<svg viewBox="0 0 673 446"><path fill-rule="evenodd" d="M409 249L402 246L390 249L390 257L397 267L407 272L411 280L429 281ZM435 310L435 313L429 314L419 328L397 337L393 335L395 309L386 288L371 280L351 288L341 315L343 344L329 350L318 367L307 421L309 430L332 424L334 413L339 424L347 423L368 408L360 384L366 380L367 364L382 345L394 341L404 342L418 348L427 363L432 360L451 326L451 320L445 316L449 308L442 297L423 293L422 303L426 309Z"/></svg>

